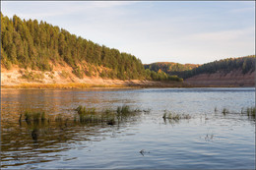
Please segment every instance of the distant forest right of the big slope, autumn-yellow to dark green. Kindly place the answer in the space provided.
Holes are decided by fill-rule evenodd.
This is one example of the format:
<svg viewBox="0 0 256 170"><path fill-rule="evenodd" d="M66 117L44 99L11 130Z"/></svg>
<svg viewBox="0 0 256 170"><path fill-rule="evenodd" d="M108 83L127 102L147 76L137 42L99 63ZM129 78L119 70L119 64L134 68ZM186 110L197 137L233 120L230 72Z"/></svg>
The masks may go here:
<svg viewBox="0 0 256 170"><path fill-rule="evenodd" d="M176 75L182 79L187 79L199 74L214 74L218 71L229 73L233 70L241 70L243 74L246 74L255 71L255 60L255 55L250 55L239 58L227 58L203 65L182 65L179 63L162 62L144 65L144 67L152 71L163 71L168 75Z"/></svg>

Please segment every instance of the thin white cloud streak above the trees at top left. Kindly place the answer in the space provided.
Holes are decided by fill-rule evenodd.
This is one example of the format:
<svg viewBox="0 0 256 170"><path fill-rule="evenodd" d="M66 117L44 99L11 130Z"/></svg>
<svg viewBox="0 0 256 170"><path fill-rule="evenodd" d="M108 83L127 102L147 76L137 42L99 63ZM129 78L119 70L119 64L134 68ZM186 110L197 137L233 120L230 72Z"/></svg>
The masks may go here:
<svg viewBox="0 0 256 170"><path fill-rule="evenodd" d="M137 2L117 2L117 1L92 1L92 2L2 2L2 11L5 15L12 17L14 14L22 18L58 17L81 12L94 12L106 10L120 6L128 6ZM19 8L23 6L23 8Z"/></svg>

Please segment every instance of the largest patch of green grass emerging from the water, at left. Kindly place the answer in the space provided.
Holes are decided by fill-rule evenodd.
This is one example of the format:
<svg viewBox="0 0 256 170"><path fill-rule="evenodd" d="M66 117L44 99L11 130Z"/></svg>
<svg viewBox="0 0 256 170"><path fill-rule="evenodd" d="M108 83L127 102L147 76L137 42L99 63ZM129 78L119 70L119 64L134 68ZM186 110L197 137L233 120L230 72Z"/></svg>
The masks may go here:
<svg viewBox="0 0 256 170"><path fill-rule="evenodd" d="M44 123L47 120L50 122L73 122L74 123L105 123L107 125L115 125L116 123L121 123L126 121L128 118L138 115L139 112L149 113L150 110L140 110L140 109L131 109L128 105L118 106L116 110L105 109L101 112L96 112L96 108L88 108L86 106L80 105L75 109L77 114L67 117L66 115L55 115L49 116L44 112L37 111L25 111L20 115L19 123L22 124L22 121L26 121L28 125Z"/></svg>

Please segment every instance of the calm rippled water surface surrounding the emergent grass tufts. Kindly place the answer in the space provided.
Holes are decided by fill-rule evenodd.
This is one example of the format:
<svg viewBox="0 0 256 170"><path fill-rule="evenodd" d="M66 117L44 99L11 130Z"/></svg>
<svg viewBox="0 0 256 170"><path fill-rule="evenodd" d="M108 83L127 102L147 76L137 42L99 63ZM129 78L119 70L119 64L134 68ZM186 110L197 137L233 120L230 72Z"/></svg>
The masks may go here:
<svg viewBox="0 0 256 170"><path fill-rule="evenodd" d="M19 124L27 109L72 117L124 104L151 112L113 126ZM254 169L255 119L240 114L251 106L255 88L1 89L1 168ZM164 110L192 118L164 121Z"/></svg>

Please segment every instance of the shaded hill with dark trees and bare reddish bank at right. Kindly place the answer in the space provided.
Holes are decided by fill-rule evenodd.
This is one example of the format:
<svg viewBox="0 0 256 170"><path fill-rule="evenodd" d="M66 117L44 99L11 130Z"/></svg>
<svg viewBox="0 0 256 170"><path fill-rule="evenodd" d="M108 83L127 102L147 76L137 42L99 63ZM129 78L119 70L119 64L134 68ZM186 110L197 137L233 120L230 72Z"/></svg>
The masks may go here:
<svg viewBox="0 0 256 170"><path fill-rule="evenodd" d="M187 85L255 86L255 55L227 58L184 71Z"/></svg>

